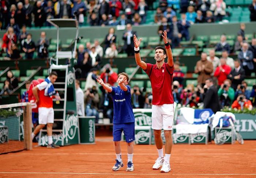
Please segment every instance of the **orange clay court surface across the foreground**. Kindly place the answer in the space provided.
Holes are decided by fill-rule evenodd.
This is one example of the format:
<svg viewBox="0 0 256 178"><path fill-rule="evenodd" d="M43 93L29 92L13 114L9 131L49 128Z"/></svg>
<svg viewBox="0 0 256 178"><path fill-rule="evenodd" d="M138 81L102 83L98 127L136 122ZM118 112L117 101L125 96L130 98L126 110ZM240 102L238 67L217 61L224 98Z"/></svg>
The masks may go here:
<svg viewBox="0 0 256 178"><path fill-rule="evenodd" d="M32 151L0 155L0 178L256 178L256 141L245 141L244 145L174 145L169 173L151 169L157 158L155 145L135 145L135 171L126 172L124 142L125 165L114 172L112 138L96 137L96 141L96 145L33 147Z"/></svg>

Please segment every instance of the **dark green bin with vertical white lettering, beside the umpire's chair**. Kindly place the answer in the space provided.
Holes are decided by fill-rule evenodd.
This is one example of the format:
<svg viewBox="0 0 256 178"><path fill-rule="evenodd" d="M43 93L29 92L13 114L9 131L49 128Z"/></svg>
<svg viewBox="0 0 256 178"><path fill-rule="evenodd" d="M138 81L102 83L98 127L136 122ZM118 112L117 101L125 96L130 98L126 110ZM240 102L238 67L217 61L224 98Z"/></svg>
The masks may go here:
<svg viewBox="0 0 256 178"><path fill-rule="evenodd" d="M95 116L79 116L80 144L95 144Z"/></svg>

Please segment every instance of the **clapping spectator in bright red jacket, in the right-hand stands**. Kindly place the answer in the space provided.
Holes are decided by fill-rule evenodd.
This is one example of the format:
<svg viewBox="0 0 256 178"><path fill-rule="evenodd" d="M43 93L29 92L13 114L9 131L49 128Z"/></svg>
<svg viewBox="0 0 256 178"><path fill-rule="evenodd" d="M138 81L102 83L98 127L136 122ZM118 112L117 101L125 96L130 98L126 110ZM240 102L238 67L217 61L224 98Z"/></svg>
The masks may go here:
<svg viewBox="0 0 256 178"><path fill-rule="evenodd" d="M220 66L218 66L214 72L214 76L218 78L218 85L224 82L227 79L227 76L231 72L231 67L226 64L226 60L224 58L220 59Z"/></svg>

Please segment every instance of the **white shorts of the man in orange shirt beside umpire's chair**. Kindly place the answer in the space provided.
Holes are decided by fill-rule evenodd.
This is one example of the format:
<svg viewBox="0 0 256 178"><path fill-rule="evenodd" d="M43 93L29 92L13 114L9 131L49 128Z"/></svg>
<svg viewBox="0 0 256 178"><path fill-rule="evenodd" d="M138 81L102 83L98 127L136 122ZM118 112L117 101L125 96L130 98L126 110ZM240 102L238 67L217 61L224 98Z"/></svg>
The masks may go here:
<svg viewBox="0 0 256 178"><path fill-rule="evenodd" d="M54 111L53 108L39 107L38 108L38 123L47 124L54 122Z"/></svg>

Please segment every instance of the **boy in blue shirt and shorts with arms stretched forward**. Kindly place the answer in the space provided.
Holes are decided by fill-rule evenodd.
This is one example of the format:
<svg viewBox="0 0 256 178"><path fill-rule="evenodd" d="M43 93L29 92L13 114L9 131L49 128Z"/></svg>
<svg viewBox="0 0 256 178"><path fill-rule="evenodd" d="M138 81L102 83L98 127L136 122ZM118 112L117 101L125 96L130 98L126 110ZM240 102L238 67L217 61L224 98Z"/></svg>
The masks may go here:
<svg viewBox="0 0 256 178"><path fill-rule="evenodd" d="M134 123L135 118L132 111L131 88L128 86L128 74L122 72L117 77L117 87L110 87L99 77L98 83L101 84L111 94L114 105L113 116L113 141L116 151L116 163L112 167L113 171L118 171L124 166L121 158L121 134L124 131L125 141L127 143L128 161L126 171L133 171L133 141L135 140Z"/></svg>

